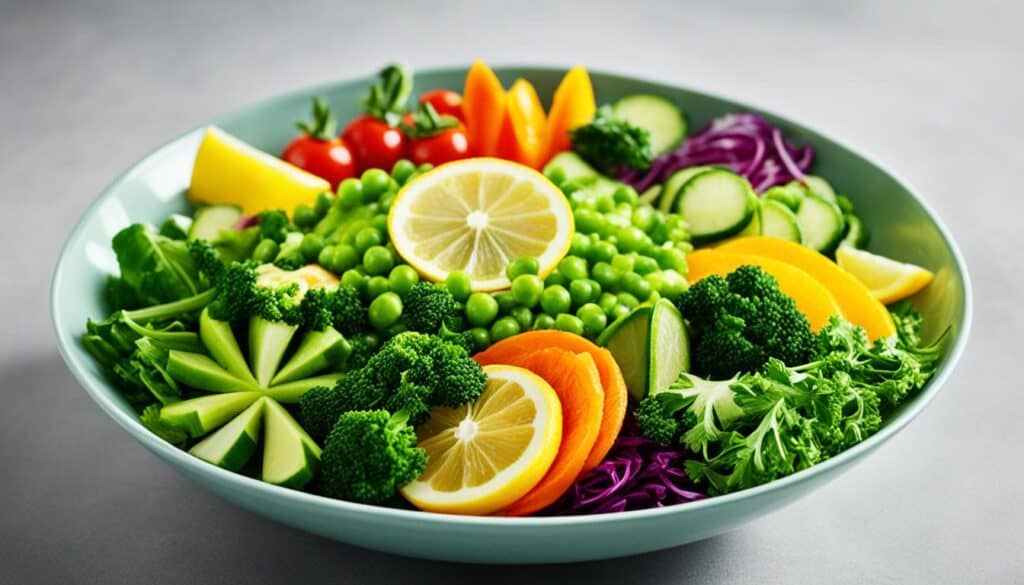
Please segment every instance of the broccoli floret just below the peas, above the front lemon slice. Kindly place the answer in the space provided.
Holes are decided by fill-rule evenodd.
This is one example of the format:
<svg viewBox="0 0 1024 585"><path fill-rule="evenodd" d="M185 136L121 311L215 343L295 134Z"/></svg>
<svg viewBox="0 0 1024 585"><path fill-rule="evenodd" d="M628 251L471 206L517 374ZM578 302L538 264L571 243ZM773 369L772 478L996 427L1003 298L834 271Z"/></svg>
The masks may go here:
<svg viewBox="0 0 1024 585"><path fill-rule="evenodd" d="M367 361L349 369L333 388L314 388L300 401L303 426L317 440L345 412L403 410L412 424L430 408L455 408L476 400L486 376L465 348L440 337L406 332L392 337Z"/></svg>

